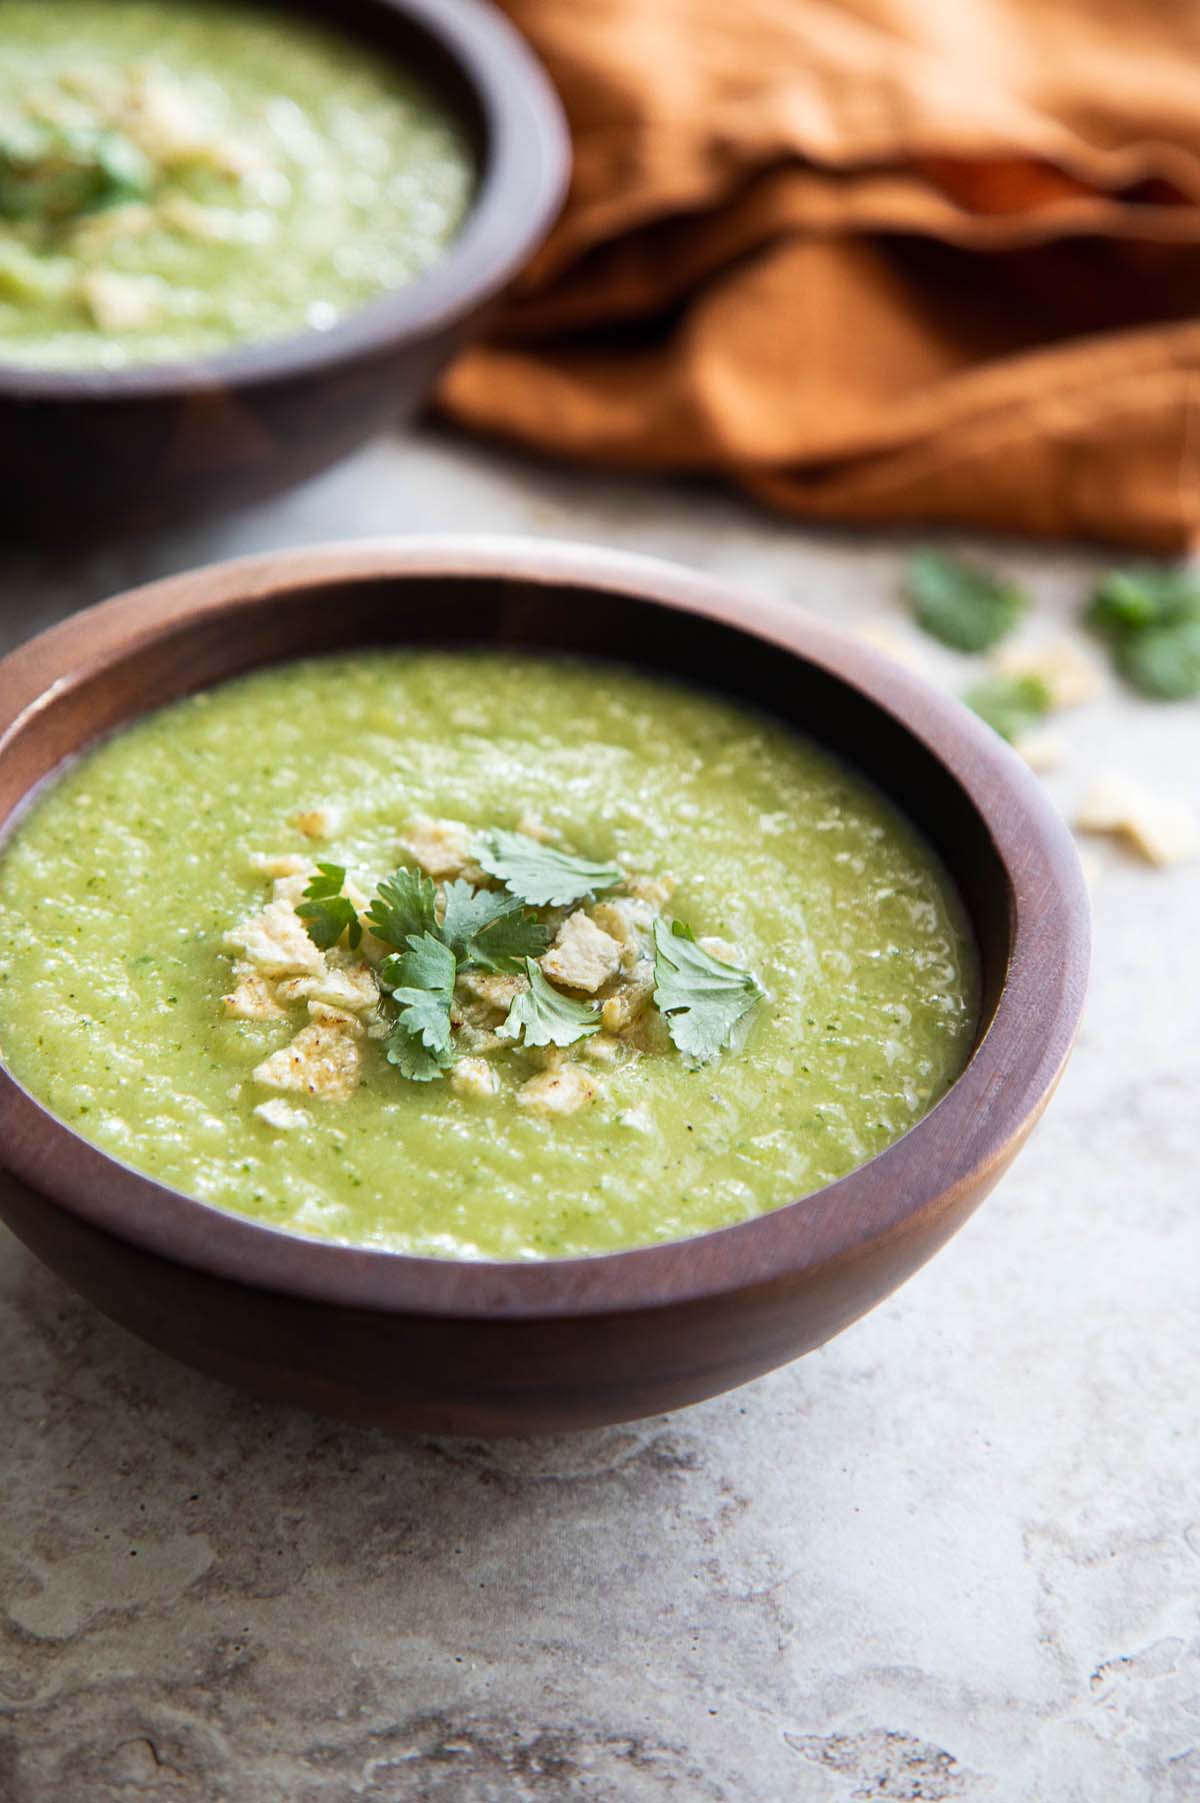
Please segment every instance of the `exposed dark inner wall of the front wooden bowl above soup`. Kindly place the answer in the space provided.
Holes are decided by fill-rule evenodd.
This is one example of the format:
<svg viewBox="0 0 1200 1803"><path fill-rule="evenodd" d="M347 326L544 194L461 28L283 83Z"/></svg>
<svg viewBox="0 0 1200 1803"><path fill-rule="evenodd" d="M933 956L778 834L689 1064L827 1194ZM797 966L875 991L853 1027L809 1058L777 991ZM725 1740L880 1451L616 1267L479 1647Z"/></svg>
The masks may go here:
<svg viewBox="0 0 1200 1803"><path fill-rule="evenodd" d="M717 618L580 581L407 575L326 581L184 617L83 669L18 721L0 759L0 835L67 759L153 707L285 658L366 645L510 645L618 660L766 710L834 750L924 833L966 903L986 1031L1011 950L1011 883L978 808L942 759L832 671Z"/></svg>

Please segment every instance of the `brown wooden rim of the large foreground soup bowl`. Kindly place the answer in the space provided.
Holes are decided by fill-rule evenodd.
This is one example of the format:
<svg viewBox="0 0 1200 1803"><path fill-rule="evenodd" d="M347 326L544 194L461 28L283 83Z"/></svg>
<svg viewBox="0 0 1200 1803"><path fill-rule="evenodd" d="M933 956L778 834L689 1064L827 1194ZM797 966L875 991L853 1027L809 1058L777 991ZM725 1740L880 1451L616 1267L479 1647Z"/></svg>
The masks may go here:
<svg viewBox="0 0 1200 1803"><path fill-rule="evenodd" d="M658 559L506 537L413 537L238 559L76 615L0 662L0 759L52 694L148 647L182 620L330 582L474 577L569 584L706 615L825 669L903 723L968 793L1007 871L1011 957L991 1026L937 1107L868 1163L811 1195L685 1240L546 1262L467 1262L341 1246L193 1201L56 1120L0 1066L0 1161L94 1226L267 1291L450 1318L598 1314L701 1300L852 1255L926 1210L986 1188L1052 1091L1088 966L1074 842L1022 761L959 701L795 606L732 591ZM288 656L286 640L279 656Z"/></svg>

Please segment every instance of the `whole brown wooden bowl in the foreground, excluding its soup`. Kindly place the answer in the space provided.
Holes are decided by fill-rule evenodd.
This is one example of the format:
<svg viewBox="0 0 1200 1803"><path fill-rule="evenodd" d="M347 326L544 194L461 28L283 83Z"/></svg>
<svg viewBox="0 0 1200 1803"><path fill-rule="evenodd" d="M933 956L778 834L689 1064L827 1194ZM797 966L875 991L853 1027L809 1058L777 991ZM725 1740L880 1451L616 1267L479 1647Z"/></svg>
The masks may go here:
<svg viewBox="0 0 1200 1803"><path fill-rule="evenodd" d="M1041 1114L1079 1020L1068 833L964 707L795 608L649 559L512 539L286 552L151 584L0 664L0 831L63 759L177 696L377 644L620 658L768 709L872 777L953 873L984 972L975 1053L849 1177L695 1239L544 1264L413 1258L258 1226L142 1177L0 1067L0 1213L155 1345L259 1396L431 1433L677 1408L820 1345L962 1224ZM1014 1305L1018 1305L1014 1302Z"/></svg>

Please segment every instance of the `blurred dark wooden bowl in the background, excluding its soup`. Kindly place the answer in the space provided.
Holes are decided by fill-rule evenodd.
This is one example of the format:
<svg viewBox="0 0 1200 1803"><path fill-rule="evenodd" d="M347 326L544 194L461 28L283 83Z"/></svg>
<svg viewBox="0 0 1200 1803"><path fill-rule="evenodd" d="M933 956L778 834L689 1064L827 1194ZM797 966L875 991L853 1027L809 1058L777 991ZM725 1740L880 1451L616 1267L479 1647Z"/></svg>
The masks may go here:
<svg viewBox="0 0 1200 1803"><path fill-rule="evenodd" d="M243 0L252 5L258 0ZM315 13L323 0L270 0ZM488 0L341 0L467 126L476 197L423 276L328 332L130 370L0 359L0 526L61 543L240 507L396 426L550 229L569 169L559 99Z"/></svg>

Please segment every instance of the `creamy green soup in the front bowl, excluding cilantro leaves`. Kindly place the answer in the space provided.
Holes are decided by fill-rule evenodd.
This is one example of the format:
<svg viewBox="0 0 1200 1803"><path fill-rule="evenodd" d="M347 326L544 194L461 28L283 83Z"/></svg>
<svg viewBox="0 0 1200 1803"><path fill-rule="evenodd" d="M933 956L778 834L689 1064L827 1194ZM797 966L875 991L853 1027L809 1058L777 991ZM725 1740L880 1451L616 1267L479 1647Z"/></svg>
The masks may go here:
<svg viewBox="0 0 1200 1803"><path fill-rule="evenodd" d="M321 860L355 925L398 865L443 912L447 883L497 889L476 862L492 829L616 867L542 911L559 950L535 974L595 1022L566 1049L505 1039L528 979L459 970L454 1062L414 1082L380 1037L382 947L319 954L294 909ZM647 993L670 920L762 990L710 1062ZM744 1221L903 1134L975 1019L959 898L874 788L778 723L607 665L279 665L85 755L0 855L14 1076L189 1195L369 1246L542 1258Z"/></svg>

